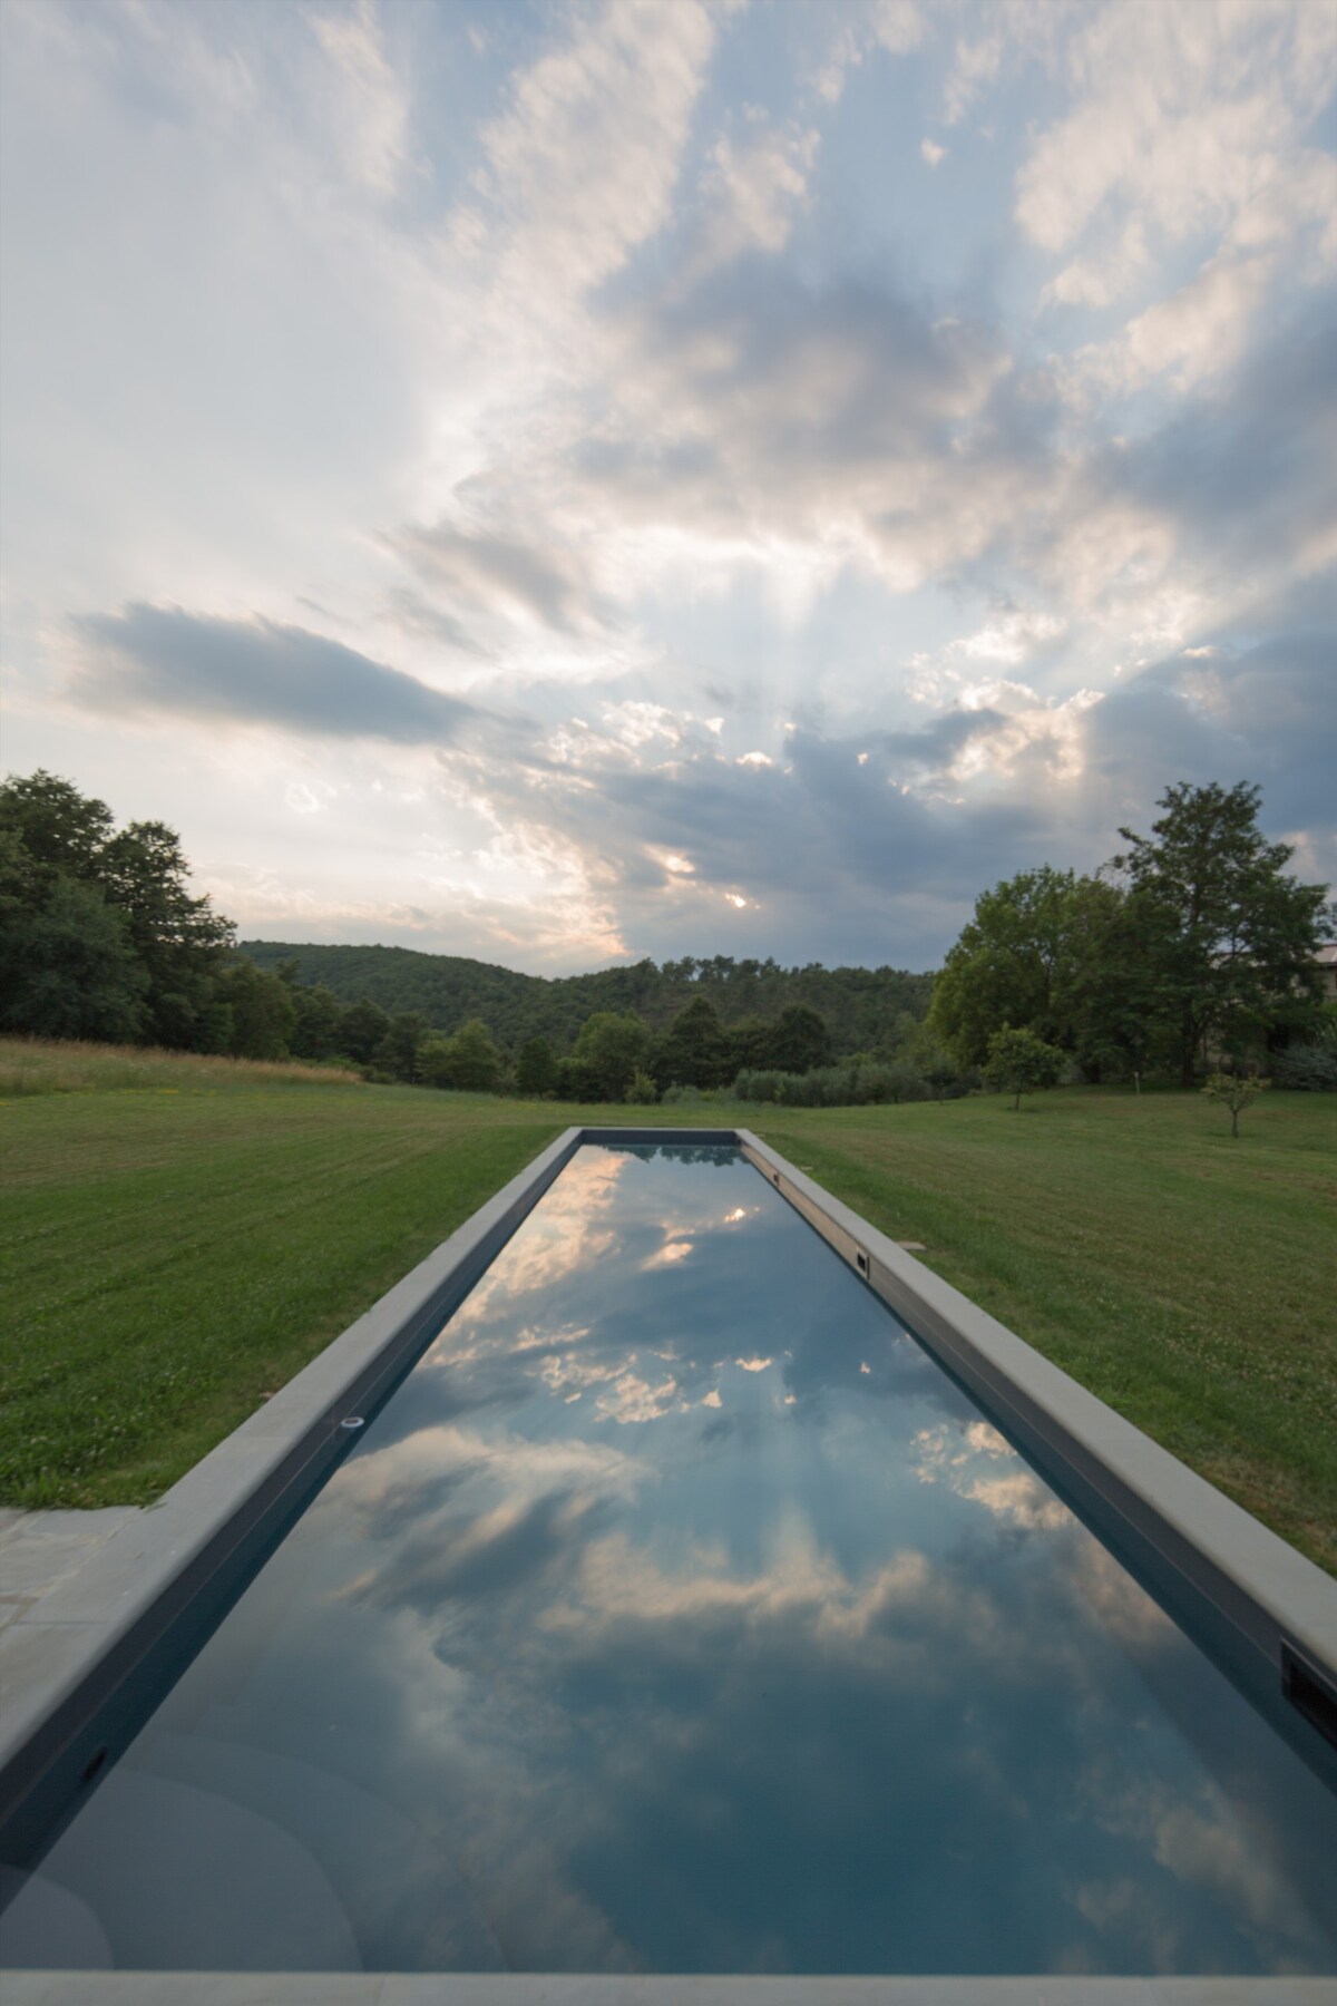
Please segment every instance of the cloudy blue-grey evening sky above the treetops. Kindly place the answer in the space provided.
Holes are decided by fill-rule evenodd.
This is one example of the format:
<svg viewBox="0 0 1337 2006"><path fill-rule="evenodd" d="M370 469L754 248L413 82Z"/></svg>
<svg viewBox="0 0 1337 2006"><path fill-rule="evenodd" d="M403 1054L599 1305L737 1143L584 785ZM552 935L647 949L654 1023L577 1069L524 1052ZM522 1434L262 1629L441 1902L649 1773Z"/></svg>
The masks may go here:
<svg viewBox="0 0 1337 2006"><path fill-rule="evenodd" d="M930 967L1337 879L1327 0L6 0L4 766L243 935Z"/></svg>

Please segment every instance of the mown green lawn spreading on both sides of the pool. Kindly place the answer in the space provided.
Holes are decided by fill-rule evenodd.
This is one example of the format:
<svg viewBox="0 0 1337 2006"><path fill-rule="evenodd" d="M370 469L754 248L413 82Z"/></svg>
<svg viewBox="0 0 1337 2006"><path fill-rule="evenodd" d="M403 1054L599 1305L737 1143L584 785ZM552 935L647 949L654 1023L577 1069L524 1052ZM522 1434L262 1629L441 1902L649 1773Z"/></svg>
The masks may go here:
<svg viewBox="0 0 1337 2006"><path fill-rule="evenodd" d="M573 1119L746 1121L1337 1573L1337 1103L571 1109L50 1055L0 1099L0 1500L144 1502ZM16 1047L0 1041L0 1083ZM2 1087L0 1087L2 1091Z"/></svg>

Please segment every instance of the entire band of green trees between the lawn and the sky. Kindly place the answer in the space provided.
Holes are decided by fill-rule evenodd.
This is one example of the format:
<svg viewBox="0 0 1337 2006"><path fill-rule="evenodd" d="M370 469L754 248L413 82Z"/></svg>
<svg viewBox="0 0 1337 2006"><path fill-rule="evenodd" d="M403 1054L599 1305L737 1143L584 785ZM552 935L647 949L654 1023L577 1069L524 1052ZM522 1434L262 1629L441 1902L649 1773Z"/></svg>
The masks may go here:
<svg viewBox="0 0 1337 2006"><path fill-rule="evenodd" d="M571 1101L850 1105L984 1079L1020 1095L1064 1073L1193 1085L1277 1045L1295 1085L1337 1085L1315 965L1335 915L1325 887L1287 875L1293 851L1261 834L1259 804L1247 782L1171 786L1151 834L1123 828L1098 873L1042 865L980 893L936 979L720 955L547 981L405 949L243 953L188 891L174 830L118 830L104 802L38 770L0 786L0 1025ZM345 985L369 971L395 1001L435 997L435 1015L341 995L311 979L321 967ZM479 995L495 1017L465 1009Z"/></svg>

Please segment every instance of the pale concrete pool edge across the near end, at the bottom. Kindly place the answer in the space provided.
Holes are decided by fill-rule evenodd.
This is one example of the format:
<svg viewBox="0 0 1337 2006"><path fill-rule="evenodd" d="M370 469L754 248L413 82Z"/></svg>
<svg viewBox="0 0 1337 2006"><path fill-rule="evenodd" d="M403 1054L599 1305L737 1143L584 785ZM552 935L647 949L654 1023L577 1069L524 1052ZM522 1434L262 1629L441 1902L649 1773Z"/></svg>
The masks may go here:
<svg viewBox="0 0 1337 2006"><path fill-rule="evenodd" d="M1331 1978L6 1972L6 2006L1333 2006Z"/></svg>

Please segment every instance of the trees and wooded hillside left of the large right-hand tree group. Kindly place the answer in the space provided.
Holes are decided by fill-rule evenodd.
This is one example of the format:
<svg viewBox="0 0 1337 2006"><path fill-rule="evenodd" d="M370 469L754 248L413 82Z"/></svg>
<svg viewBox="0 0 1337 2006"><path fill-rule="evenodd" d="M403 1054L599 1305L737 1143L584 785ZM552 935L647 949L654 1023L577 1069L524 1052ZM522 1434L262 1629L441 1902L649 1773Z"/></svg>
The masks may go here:
<svg viewBox="0 0 1337 2006"><path fill-rule="evenodd" d="M459 957L369 951L395 977L405 963L439 963L457 997L469 1001L481 981L483 993L507 1001L497 1011L507 1023L525 1023L517 997L529 997L533 1009L535 995L555 995L559 1025L571 1025L573 1007L609 989L645 1001L645 1013L631 1005L583 1009L567 1035L531 1031L507 1041L477 1009L443 1023L425 1009L387 1009L371 995L349 999L303 979L319 957L359 957L357 949L285 953L253 943L239 951L233 921L188 891L188 863L172 828L116 828L106 802L44 770L0 786L0 1027L8 1031L249 1059L351 1061L371 1079L569 1099L623 1099L629 1091L653 1099L674 1085L710 1091L748 1067L804 1075L836 1057L842 1037L796 995L842 993L848 1039L854 1021L882 1023L886 1035L916 1023L908 1005L918 1003L922 1015L930 983L894 969L784 971L774 961L730 957L663 969L643 961L543 981ZM393 993L403 997L403 983ZM720 997L728 999L724 1011ZM742 1009L744 1001L758 1007ZM900 1007L888 1017L892 1003Z"/></svg>

